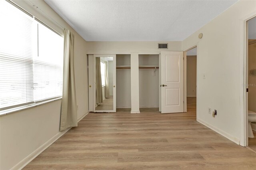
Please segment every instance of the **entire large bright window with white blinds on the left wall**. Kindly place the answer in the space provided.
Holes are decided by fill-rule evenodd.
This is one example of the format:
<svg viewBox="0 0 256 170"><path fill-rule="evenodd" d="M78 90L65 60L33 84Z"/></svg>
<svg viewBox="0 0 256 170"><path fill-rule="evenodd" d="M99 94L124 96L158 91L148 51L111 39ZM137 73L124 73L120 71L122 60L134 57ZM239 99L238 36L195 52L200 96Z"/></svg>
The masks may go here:
<svg viewBox="0 0 256 170"><path fill-rule="evenodd" d="M0 1L0 110L62 96L63 37Z"/></svg>

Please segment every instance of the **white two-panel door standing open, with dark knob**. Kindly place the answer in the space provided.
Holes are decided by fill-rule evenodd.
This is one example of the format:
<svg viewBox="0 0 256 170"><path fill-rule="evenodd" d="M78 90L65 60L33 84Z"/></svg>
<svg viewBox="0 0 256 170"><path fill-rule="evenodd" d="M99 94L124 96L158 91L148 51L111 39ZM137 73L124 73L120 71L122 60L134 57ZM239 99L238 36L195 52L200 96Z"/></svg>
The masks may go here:
<svg viewBox="0 0 256 170"><path fill-rule="evenodd" d="M161 52L161 113L182 113L183 96L183 52Z"/></svg>

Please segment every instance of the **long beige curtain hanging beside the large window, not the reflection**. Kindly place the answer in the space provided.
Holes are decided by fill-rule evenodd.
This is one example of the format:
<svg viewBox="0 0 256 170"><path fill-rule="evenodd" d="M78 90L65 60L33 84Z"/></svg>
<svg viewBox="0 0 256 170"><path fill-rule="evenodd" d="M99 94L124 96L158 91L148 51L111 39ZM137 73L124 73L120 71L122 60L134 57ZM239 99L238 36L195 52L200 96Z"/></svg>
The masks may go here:
<svg viewBox="0 0 256 170"><path fill-rule="evenodd" d="M77 127L76 90L74 77L74 36L64 30L63 94L60 115L60 131Z"/></svg>

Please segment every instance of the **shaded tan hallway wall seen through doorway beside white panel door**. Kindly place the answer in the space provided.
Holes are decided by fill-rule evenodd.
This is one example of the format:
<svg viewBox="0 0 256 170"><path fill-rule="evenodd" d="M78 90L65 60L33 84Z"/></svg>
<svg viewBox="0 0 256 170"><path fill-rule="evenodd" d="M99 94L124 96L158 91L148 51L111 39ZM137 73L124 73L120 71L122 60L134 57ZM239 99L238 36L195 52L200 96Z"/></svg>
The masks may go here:
<svg viewBox="0 0 256 170"><path fill-rule="evenodd" d="M196 55L187 55L187 97L196 97Z"/></svg>

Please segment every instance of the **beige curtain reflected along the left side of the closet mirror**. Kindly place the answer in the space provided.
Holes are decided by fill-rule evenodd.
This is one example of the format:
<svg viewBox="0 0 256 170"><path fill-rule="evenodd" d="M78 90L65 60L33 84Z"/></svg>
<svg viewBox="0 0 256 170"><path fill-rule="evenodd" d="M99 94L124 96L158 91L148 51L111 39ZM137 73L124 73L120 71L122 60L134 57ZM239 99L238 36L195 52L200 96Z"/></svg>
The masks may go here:
<svg viewBox="0 0 256 170"><path fill-rule="evenodd" d="M103 102L100 57L96 57L96 104Z"/></svg>

